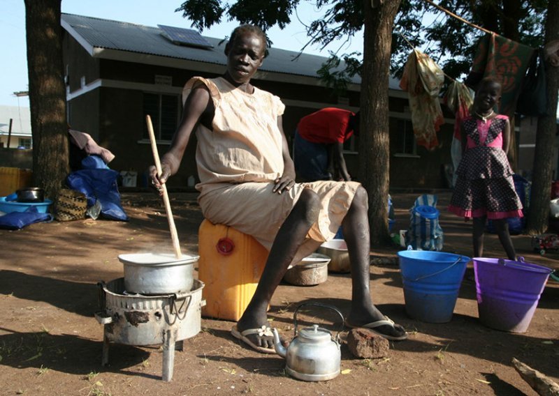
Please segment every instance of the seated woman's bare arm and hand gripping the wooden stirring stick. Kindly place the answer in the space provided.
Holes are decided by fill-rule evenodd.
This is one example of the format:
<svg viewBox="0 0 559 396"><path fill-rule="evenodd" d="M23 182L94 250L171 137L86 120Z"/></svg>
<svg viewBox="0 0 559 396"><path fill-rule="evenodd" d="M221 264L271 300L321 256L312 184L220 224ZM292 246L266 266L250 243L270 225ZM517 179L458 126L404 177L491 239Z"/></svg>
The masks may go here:
<svg viewBox="0 0 559 396"><path fill-rule="evenodd" d="M196 123L202 117L211 116L213 118L213 112L214 108L213 102L210 100L210 92L205 86L191 91L187 101L184 102L182 118L175 131L175 135L173 135L170 148L161 158L161 176L157 177L157 169L154 166L150 167L149 172L154 187L161 187L161 184L166 183L169 176L177 173Z"/></svg>

